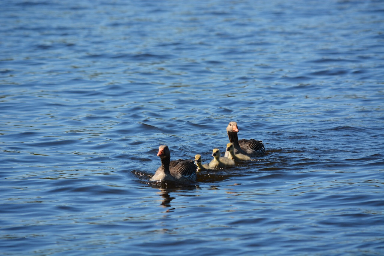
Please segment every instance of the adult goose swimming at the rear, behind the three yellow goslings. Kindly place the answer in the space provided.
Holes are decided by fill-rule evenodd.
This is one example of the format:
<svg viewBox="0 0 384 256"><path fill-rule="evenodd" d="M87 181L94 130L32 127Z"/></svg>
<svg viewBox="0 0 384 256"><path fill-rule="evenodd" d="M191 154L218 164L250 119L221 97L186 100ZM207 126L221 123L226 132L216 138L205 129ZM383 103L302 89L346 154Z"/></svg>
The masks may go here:
<svg viewBox="0 0 384 256"><path fill-rule="evenodd" d="M238 133L238 128L237 128L237 122L229 122L227 126L227 134L230 143L233 144L235 147L235 154L243 154L246 156L250 157L255 157L255 156L264 156L265 155L265 148L264 144L262 143L261 140L238 140L237 138L237 133ZM225 157L227 157L230 153L227 151L225 152Z"/></svg>

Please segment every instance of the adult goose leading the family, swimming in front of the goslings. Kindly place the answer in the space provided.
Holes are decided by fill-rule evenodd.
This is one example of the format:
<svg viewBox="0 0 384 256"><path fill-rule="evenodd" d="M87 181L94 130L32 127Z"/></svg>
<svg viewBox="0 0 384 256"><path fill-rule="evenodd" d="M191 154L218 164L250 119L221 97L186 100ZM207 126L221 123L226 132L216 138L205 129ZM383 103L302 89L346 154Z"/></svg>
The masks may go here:
<svg viewBox="0 0 384 256"><path fill-rule="evenodd" d="M157 156L161 159L161 166L157 168L151 181L195 181L197 166L192 160L174 160L170 161L170 151L168 146L159 146Z"/></svg>

